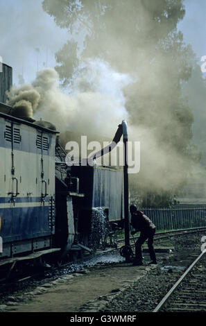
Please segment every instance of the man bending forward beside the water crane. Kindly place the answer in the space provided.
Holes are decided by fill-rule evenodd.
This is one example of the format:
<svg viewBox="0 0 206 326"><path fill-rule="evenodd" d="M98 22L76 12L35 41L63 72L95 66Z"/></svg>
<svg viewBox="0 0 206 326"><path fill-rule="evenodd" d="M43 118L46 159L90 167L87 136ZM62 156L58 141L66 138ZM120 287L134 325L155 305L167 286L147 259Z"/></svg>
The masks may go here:
<svg viewBox="0 0 206 326"><path fill-rule="evenodd" d="M141 246L148 239L148 251L151 257L149 264L157 264L155 250L153 248L153 237L155 235L155 225L143 212L137 211L136 205L130 205L131 225L135 229L132 234L140 231L139 239L135 243L134 266L142 265Z"/></svg>

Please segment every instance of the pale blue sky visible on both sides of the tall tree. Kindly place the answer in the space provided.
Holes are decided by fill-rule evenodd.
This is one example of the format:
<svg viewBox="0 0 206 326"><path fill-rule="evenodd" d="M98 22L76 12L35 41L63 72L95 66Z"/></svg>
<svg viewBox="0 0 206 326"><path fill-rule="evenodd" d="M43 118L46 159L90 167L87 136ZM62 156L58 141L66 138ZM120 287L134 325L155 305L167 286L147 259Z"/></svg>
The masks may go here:
<svg viewBox="0 0 206 326"><path fill-rule="evenodd" d="M206 55L206 0L185 0L184 4L186 15L178 28L201 65L200 59ZM37 70L55 67L55 52L68 40L67 30L56 26L42 10L42 0L0 0L0 6L0 55L12 66L15 85L19 74L31 83Z"/></svg>

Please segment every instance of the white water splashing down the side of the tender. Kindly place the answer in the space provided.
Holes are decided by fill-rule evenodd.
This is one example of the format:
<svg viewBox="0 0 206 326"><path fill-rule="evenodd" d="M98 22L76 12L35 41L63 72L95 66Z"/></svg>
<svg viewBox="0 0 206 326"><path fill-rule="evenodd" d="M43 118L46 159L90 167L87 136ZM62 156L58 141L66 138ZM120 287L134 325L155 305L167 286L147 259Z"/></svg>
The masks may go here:
<svg viewBox="0 0 206 326"><path fill-rule="evenodd" d="M95 207L92 210L90 246L93 250L104 249L107 237L110 233L110 223L103 207Z"/></svg>

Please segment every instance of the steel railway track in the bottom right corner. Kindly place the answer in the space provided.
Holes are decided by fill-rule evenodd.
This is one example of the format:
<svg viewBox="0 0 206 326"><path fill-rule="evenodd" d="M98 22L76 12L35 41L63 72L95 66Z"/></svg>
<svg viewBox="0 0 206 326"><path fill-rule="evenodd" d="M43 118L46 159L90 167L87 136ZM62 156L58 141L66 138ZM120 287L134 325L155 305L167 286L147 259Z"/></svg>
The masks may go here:
<svg viewBox="0 0 206 326"><path fill-rule="evenodd" d="M187 268L153 312L206 311L205 250Z"/></svg>

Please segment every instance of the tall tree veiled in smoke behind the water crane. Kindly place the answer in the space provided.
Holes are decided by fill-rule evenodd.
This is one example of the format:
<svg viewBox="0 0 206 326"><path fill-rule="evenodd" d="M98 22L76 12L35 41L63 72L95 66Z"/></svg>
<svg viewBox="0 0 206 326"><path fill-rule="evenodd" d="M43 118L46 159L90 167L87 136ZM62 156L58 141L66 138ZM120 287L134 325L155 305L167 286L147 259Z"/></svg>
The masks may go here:
<svg viewBox="0 0 206 326"><path fill-rule="evenodd" d="M44 0L42 6L74 37L56 54L64 85L85 58L101 58L133 76L124 94L142 164L132 180L147 205L154 196L169 205L199 159L192 144L194 117L182 96L182 83L195 65L191 46L177 31L183 0ZM83 44L77 45L77 33L85 33Z"/></svg>

